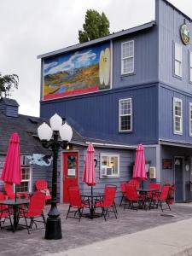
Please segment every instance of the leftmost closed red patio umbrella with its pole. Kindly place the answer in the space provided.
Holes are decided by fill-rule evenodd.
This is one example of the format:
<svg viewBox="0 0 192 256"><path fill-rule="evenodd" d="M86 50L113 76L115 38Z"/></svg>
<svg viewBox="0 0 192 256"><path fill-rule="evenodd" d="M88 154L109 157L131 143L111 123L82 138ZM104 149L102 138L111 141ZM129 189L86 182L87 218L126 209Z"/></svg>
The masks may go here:
<svg viewBox="0 0 192 256"><path fill-rule="evenodd" d="M20 184L20 137L16 132L12 133L9 139L9 147L3 166L1 179L5 183L15 183L15 185Z"/></svg>

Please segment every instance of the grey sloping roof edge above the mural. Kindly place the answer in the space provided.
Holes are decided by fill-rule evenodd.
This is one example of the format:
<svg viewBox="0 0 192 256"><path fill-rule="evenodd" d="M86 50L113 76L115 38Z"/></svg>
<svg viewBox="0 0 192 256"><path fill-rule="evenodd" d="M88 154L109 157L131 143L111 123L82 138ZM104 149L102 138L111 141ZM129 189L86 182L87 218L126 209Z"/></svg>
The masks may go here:
<svg viewBox="0 0 192 256"><path fill-rule="evenodd" d="M49 57L49 56L53 56L53 55L59 55L59 54L64 53L64 52L71 51L73 49L84 48L84 47L90 46L92 44L102 43L102 42L111 40L113 38L119 38L119 37L122 37L122 36L124 36L126 34L131 34L133 32L138 32L138 31L141 31L143 29L150 28L150 27L154 26L155 24L156 24L155 20L152 20L152 21L150 21L148 23L144 23L143 25L134 26L134 27L131 27L129 29L122 30L120 32L115 32L115 33L110 34L110 35L108 35L106 37L97 38L97 39L91 40L89 42L85 42L83 44L74 44L74 45L68 46L66 48L57 49L55 51L51 51L51 52L45 53L43 55L38 55L38 59L43 59L43 58L46 58L46 57Z"/></svg>

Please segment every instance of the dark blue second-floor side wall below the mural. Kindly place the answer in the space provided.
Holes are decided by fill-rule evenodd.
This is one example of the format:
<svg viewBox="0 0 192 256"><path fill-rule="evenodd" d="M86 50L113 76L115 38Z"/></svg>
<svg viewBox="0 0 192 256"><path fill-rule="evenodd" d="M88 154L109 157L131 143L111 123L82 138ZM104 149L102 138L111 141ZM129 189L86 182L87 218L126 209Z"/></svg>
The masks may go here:
<svg viewBox="0 0 192 256"><path fill-rule="evenodd" d="M133 131L119 132L119 99L132 98ZM158 142L158 86L110 90L41 102L41 117L54 113L67 118L84 137L97 137L121 143Z"/></svg>

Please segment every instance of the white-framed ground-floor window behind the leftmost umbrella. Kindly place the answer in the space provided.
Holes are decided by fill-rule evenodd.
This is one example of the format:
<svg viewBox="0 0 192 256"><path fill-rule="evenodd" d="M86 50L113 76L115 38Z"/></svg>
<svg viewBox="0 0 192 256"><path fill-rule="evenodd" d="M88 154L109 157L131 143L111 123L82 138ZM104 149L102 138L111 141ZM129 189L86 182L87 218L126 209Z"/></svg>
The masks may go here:
<svg viewBox="0 0 192 256"><path fill-rule="evenodd" d="M20 185L16 186L17 192L26 192L30 193L31 189L31 181L32 181L32 169L29 164L29 159L27 159L26 155L21 155L20 160L21 165L21 173L20 173Z"/></svg>

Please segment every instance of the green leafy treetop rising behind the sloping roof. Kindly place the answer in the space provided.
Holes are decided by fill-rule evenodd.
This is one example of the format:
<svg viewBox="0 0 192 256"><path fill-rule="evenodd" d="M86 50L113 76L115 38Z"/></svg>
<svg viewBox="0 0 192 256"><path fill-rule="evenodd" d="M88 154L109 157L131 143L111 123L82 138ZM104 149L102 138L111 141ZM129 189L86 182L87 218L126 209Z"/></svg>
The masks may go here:
<svg viewBox="0 0 192 256"><path fill-rule="evenodd" d="M96 38L102 38L110 34L108 18L103 12L102 15L100 15L94 9L88 9L86 11L83 28L83 31L79 30L80 44Z"/></svg>

